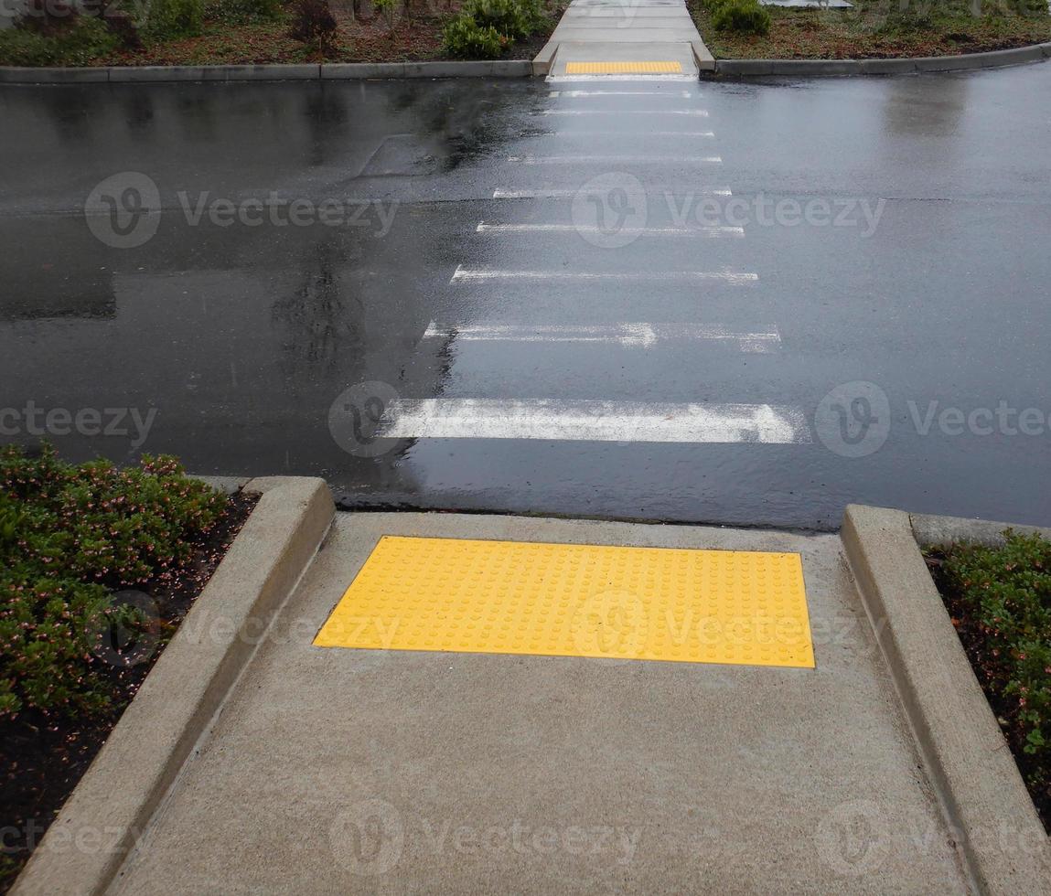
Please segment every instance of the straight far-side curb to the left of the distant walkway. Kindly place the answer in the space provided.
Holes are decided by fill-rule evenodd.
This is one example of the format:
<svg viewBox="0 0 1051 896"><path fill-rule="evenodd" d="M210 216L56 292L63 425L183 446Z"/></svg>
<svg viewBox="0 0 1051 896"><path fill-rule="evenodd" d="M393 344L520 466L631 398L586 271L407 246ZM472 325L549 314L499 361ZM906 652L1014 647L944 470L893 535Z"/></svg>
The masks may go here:
<svg viewBox="0 0 1051 896"><path fill-rule="evenodd" d="M171 81L347 81L366 78L528 78L527 59L497 62L351 62L324 65L141 65L98 68L0 66L0 84L131 84Z"/></svg>

